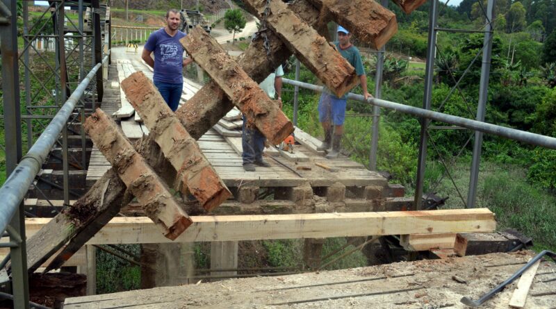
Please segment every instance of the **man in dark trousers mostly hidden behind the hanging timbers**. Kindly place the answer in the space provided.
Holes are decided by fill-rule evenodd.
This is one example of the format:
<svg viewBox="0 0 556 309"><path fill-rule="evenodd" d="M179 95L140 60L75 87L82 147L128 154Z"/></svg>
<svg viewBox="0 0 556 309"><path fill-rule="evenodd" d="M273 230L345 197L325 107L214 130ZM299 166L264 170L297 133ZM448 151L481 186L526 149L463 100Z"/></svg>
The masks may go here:
<svg viewBox="0 0 556 309"><path fill-rule="evenodd" d="M271 73L259 84L262 90L268 94L270 99L275 99L282 108L282 76L284 69L280 65L274 73ZM257 128L247 128L247 119L243 116L243 133L241 134L241 146L243 147L243 169L245 172L255 172L255 165L260 167L270 167L270 164L263 160L263 150L265 148L266 137Z"/></svg>

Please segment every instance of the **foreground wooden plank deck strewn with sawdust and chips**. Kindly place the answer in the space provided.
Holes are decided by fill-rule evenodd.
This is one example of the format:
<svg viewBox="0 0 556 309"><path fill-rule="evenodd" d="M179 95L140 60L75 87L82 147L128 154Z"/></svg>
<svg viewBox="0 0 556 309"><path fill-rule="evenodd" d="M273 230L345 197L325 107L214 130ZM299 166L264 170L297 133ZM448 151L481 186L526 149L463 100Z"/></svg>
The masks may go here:
<svg viewBox="0 0 556 309"><path fill-rule="evenodd" d="M389 265L240 278L65 300L74 308L466 308L511 276L534 253L397 262ZM556 308L556 265L541 262L525 308ZM509 308L516 282L482 308Z"/></svg>

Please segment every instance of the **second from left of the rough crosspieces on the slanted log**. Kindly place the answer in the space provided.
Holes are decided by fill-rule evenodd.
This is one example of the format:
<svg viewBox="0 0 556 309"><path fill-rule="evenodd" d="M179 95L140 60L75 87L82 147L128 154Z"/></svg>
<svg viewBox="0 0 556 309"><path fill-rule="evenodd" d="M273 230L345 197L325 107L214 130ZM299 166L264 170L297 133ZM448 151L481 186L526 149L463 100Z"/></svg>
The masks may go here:
<svg viewBox="0 0 556 309"><path fill-rule="evenodd" d="M122 81L133 108L141 115L150 135L178 172L175 187L193 194L206 210L212 210L231 196L226 185L189 135L179 119L165 104L160 92L142 72Z"/></svg>

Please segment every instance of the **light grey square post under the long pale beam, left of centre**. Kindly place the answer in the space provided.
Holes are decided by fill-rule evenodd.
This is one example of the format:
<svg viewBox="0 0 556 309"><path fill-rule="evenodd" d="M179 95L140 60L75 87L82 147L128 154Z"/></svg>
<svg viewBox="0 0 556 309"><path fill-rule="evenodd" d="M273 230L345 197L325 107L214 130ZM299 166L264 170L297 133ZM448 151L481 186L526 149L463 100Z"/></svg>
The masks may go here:
<svg viewBox="0 0 556 309"><path fill-rule="evenodd" d="M238 242L211 242L211 269L238 268ZM238 272L211 272L213 276L234 276ZM214 278L211 281L222 279Z"/></svg>

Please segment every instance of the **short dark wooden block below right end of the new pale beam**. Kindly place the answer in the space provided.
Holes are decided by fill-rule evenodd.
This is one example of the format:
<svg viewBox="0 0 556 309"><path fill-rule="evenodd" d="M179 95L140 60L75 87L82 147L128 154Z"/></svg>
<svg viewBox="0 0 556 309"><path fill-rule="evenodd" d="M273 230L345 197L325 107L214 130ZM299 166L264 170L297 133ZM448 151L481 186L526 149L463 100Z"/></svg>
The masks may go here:
<svg viewBox="0 0 556 309"><path fill-rule="evenodd" d="M458 256L478 256L507 252L520 243L517 237L500 233L459 233L456 235L454 251Z"/></svg>

